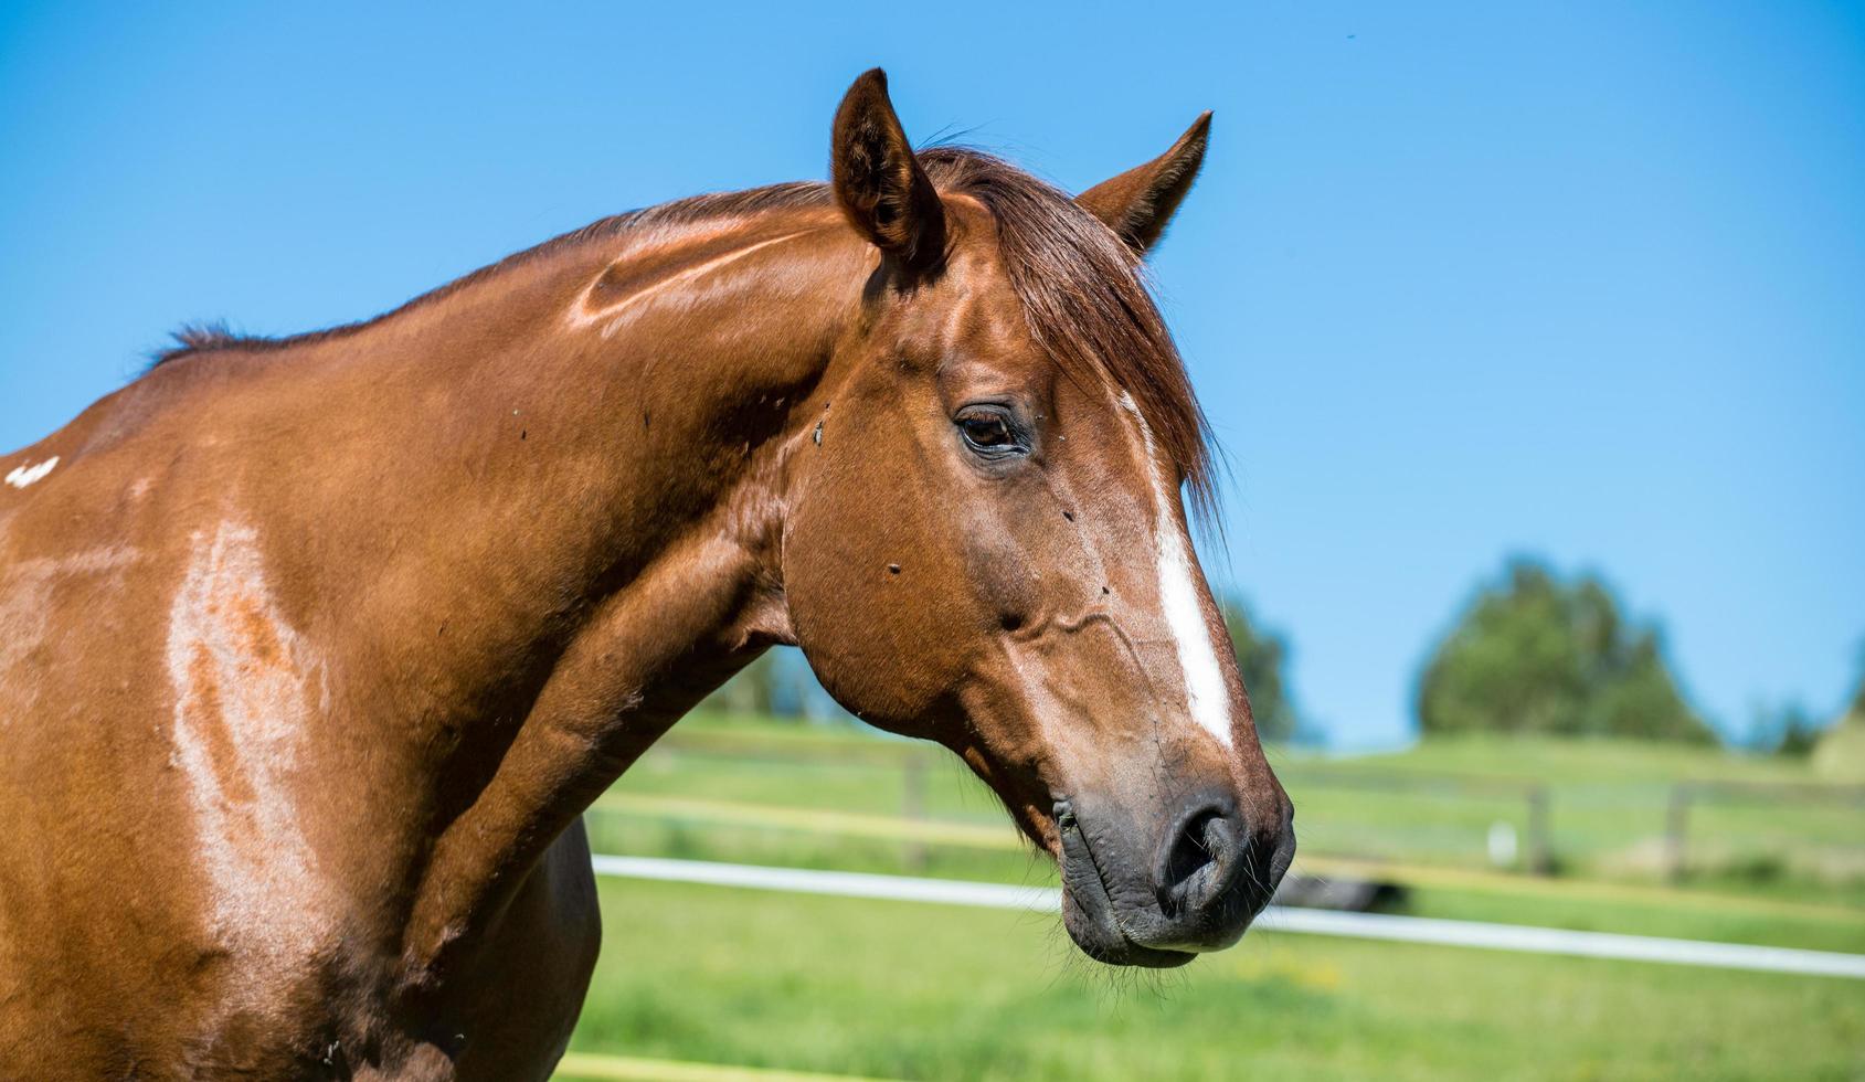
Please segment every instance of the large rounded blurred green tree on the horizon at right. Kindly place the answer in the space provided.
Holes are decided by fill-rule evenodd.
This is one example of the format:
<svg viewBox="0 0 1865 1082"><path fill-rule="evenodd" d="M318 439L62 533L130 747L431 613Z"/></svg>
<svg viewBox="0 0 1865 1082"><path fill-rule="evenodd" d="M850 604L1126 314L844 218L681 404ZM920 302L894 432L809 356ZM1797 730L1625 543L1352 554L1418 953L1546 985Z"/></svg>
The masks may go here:
<svg viewBox="0 0 1865 1082"><path fill-rule="evenodd" d="M1427 735L1716 741L1678 694L1654 629L1626 623L1598 578L1567 584L1533 560L1511 562L1432 651L1417 718Z"/></svg>

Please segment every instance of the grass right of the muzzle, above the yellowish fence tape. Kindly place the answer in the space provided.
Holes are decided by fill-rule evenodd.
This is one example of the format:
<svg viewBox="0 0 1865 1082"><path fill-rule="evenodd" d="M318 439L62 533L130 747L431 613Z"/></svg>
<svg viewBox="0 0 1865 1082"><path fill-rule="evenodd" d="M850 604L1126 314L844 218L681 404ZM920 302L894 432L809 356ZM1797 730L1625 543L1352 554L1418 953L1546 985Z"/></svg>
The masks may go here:
<svg viewBox="0 0 1865 1082"><path fill-rule="evenodd" d="M1458 737L1389 756L1283 756L1313 841L1335 853L1481 864L1494 821L1527 836L1546 797L1550 845L1570 871L1658 879L1671 800L1688 795L1688 864L1725 890L1809 890L1865 901L1865 789L1803 759L1637 741ZM1416 785L1406 789L1404 785Z"/></svg>

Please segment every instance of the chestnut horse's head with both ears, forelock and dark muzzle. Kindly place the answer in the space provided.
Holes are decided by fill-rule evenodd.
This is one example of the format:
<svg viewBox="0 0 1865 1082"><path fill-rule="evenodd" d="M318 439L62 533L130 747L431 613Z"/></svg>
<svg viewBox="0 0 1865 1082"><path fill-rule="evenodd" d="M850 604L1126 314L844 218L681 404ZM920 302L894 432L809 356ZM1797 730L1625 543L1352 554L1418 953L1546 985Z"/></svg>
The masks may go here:
<svg viewBox="0 0 1865 1082"><path fill-rule="evenodd" d="M916 155L886 76L856 80L832 187L873 274L783 532L822 685L957 752L1059 862L1074 942L1121 964L1236 942L1294 854L1192 547L1205 420L1141 280L1207 132L1069 200Z"/></svg>

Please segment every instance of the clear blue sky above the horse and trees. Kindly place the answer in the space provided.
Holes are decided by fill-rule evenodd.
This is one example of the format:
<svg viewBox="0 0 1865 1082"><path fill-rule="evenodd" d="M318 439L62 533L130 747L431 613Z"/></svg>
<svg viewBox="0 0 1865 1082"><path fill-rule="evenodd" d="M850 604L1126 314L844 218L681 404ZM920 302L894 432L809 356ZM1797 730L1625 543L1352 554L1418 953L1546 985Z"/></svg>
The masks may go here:
<svg viewBox="0 0 1865 1082"><path fill-rule="evenodd" d="M1684 687L1839 705L1865 636L1858 4L0 7L0 448L186 319L371 315L636 205L916 140L1082 188L1216 110L1156 259L1236 487L1222 582L1347 746L1402 741L1511 552Z"/></svg>

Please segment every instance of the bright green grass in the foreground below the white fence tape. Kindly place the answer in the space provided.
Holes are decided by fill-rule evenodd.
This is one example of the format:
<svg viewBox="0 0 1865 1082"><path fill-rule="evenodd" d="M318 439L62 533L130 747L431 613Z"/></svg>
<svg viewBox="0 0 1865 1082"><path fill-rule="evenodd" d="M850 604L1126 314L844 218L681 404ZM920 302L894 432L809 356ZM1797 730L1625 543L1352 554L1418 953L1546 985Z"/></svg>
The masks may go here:
<svg viewBox="0 0 1865 1082"><path fill-rule="evenodd" d="M1156 979L1054 918L604 882L573 1048L888 1078L1854 1078L1848 981L1253 931Z"/></svg>

